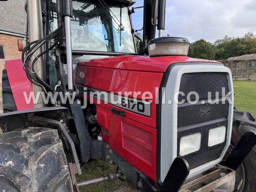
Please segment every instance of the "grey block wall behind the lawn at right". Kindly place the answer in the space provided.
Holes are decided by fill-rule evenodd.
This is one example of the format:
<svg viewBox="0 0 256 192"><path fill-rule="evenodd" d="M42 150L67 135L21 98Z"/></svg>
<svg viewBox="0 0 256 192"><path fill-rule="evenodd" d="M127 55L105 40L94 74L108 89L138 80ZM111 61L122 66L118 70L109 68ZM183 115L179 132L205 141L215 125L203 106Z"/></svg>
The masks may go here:
<svg viewBox="0 0 256 192"><path fill-rule="evenodd" d="M233 80L256 81L256 60L218 60L232 72ZM254 66L251 66L252 62Z"/></svg>

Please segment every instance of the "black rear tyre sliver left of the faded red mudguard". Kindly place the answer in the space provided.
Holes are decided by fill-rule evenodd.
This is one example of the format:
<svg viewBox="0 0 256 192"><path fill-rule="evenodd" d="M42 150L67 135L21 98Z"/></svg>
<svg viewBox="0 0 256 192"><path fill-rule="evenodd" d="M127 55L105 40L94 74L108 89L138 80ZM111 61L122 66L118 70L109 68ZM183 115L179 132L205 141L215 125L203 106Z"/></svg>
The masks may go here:
<svg viewBox="0 0 256 192"><path fill-rule="evenodd" d="M12 89L6 69L3 70L2 76L2 92L3 92L3 111L4 113L17 111L17 106L14 101Z"/></svg>

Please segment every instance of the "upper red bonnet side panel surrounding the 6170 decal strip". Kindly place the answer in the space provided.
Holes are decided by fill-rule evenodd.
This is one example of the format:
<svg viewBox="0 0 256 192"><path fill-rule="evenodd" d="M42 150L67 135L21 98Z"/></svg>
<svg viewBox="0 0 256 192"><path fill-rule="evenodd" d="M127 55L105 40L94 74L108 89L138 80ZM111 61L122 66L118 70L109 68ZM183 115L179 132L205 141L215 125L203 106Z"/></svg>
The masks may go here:
<svg viewBox="0 0 256 192"><path fill-rule="evenodd" d="M149 100L152 101L150 117L139 115L125 109L120 110L124 110L126 112L126 117L133 121L137 121L151 127L156 127L156 98L163 73L78 66L77 79L81 79L79 76L81 71L85 73L83 78L84 82L81 83L76 81L76 84L99 89L101 91L114 92L116 94L118 94L118 92L122 92L123 96L128 96L125 92L131 92L132 94L129 95L129 97L132 98L134 97L135 92L152 93L153 99ZM84 97L83 94L80 94L80 96ZM137 99L142 99L142 94L138 95ZM108 107L104 102L101 102L100 106L103 108ZM111 105L111 107L113 106ZM110 107L108 107L108 109L110 110Z"/></svg>

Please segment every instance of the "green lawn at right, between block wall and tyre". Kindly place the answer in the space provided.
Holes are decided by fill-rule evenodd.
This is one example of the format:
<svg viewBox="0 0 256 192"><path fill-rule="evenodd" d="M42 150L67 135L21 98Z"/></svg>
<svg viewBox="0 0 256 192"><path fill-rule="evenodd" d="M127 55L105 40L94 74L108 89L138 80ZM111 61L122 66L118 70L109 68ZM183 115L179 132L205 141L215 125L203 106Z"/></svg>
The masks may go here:
<svg viewBox="0 0 256 192"><path fill-rule="evenodd" d="M256 115L256 81L233 81L234 105L242 111Z"/></svg>

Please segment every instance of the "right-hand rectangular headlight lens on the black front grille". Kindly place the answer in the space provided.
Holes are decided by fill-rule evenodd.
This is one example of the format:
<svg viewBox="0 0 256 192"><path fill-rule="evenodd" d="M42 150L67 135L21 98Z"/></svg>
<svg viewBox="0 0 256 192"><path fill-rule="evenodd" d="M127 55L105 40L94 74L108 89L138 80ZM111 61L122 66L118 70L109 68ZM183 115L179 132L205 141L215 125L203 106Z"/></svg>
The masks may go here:
<svg viewBox="0 0 256 192"><path fill-rule="evenodd" d="M210 129L208 137L208 146L212 147L213 145L220 144L225 141L226 136L226 127L218 127Z"/></svg>

